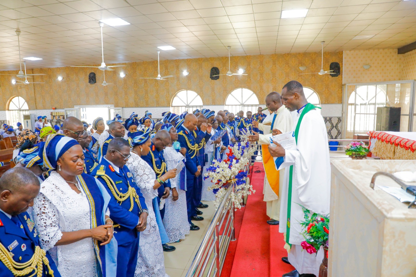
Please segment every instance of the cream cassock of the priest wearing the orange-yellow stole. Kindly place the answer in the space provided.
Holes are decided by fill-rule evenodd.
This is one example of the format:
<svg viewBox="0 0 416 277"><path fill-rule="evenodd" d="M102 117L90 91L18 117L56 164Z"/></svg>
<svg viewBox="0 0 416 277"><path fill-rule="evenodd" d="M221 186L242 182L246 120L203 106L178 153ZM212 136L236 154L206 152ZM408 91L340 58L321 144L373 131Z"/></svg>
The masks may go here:
<svg viewBox="0 0 416 277"><path fill-rule="evenodd" d="M268 122L268 121L273 122L273 117L275 114L276 114L276 119L275 119L272 129L278 129L282 133L287 133L287 132L292 131L292 126L293 126L292 115L290 114L290 111L286 109L286 107L283 105L279 109L277 109L274 113L272 113L270 116L267 116L263 122ZM270 145L270 136L272 136L272 134L270 133L270 127L271 126L264 125L261 123L259 124L259 130L263 131L263 134L259 134L259 140L258 140L259 144ZM281 169L279 174L280 174L279 175L279 195L281 195L285 169ZM279 220L280 197L271 188L269 181L267 180L267 175L265 175L264 177L263 194L264 194L263 201L266 202L266 207L267 207L266 209L267 216L272 219Z"/></svg>

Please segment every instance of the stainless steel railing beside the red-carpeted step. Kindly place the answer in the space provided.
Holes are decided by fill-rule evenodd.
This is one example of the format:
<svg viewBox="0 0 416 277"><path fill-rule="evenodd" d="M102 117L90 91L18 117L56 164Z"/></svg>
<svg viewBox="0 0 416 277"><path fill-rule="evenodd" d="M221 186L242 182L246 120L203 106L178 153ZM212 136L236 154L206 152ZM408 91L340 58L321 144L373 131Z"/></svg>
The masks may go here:
<svg viewBox="0 0 416 277"><path fill-rule="evenodd" d="M245 167L248 172L249 165ZM186 277L220 277L230 241L235 241L234 192L231 184L208 227L208 232L196 252Z"/></svg>

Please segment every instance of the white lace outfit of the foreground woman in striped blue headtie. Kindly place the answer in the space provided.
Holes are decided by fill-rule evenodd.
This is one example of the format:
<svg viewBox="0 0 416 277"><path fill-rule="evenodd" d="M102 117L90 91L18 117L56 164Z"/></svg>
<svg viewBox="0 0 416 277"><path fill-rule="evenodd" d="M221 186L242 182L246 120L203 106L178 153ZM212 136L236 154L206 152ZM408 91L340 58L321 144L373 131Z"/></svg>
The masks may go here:
<svg viewBox="0 0 416 277"><path fill-rule="evenodd" d="M81 193L76 193L56 171L52 171L40 185L33 206L40 245L50 250L62 277L96 276L97 272L92 238L55 246L62 232L91 228L87 195L80 185L78 187Z"/></svg>

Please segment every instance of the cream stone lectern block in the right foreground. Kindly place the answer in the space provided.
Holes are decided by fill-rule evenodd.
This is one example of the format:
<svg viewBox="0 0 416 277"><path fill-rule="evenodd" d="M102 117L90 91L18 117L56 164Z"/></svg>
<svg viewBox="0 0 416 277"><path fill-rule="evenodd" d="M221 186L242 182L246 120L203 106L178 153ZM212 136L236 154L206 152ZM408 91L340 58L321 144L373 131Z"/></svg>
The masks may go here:
<svg viewBox="0 0 416 277"><path fill-rule="evenodd" d="M415 168L416 161L332 161L328 276L416 276L416 209L377 187L400 187L386 176L369 186L377 171Z"/></svg>

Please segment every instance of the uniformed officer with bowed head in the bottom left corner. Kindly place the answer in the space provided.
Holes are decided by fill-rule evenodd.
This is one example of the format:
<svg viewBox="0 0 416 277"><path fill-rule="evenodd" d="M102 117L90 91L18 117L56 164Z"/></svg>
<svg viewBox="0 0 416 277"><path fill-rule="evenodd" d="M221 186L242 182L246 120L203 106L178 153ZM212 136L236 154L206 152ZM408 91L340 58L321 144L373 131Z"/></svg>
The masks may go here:
<svg viewBox="0 0 416 277"><path fill-rule="evenodd" d="M1 277L37 276L39 272L42 277L61 276L52 257L40 247L35 223L26 212L39 190L39 180L27 168L9 169L0 178Z"/></svg>

